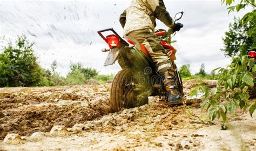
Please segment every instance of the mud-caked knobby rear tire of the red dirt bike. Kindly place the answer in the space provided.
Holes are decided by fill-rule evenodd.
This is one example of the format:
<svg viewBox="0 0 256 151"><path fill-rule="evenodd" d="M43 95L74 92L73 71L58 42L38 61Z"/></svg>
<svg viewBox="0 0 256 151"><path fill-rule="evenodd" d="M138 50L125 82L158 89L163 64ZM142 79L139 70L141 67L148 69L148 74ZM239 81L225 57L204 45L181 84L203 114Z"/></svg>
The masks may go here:
<svg viewBox="0 0 256 151"><path fill-rule="evenodd" d="M112 112L118 112L122 108L133 108L147 104L145 97L136 102L137 95L134 91L133 72L130 68L124 68L113 79L110 93L110 108Z"/></svg>

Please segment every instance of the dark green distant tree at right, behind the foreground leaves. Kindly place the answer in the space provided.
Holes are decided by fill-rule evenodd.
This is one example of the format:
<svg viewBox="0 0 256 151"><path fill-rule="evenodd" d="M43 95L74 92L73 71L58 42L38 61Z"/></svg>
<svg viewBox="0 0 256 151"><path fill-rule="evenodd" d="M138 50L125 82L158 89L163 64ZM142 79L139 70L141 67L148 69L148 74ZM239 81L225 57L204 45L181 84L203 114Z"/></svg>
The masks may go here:
<svg viewBox="0 0 256 151"><path fill-rule="evenodd" d="M239 18L234 18L234 23L230 24L223 38L224 49L221 51L224 51L225 56L246 55L247 50L255 43L255 35L249 35L249 32L255 29L254 26L254 24L244 24Z"/></svg>

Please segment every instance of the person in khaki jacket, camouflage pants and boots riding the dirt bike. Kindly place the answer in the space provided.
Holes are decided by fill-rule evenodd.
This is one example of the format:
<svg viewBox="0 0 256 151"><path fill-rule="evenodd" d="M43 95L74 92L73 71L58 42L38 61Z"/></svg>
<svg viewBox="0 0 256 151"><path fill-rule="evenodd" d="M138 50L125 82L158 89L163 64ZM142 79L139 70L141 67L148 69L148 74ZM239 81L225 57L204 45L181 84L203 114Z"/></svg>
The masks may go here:
<svg viewBox="0 0 256 151"><path fill-rule="evenodd" d="M156 18L173 31L179 31L183 26L173 22L163 0L132 0L130 6L120 15L120 24L124 28L124 35L145 45L164 81L170 104L180 104L182 96L177 90L177 78L170 58L160 39L154 34Z"/></svg>

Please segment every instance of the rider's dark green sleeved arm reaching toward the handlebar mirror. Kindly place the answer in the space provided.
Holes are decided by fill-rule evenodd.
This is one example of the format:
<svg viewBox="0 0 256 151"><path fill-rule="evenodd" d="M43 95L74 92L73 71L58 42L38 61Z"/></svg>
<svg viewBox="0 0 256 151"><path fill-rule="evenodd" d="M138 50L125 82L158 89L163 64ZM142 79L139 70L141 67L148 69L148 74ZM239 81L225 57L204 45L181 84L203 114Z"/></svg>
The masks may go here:
<svg viewBox="0 0 256 151"><path fill-rule="evenodd" d="M169 28L174 25L173 19L170 16L169 12L166 10L163 0L159 0L159 5L154 10L154 16L156 16L157 19L159 19Z"/></svg>

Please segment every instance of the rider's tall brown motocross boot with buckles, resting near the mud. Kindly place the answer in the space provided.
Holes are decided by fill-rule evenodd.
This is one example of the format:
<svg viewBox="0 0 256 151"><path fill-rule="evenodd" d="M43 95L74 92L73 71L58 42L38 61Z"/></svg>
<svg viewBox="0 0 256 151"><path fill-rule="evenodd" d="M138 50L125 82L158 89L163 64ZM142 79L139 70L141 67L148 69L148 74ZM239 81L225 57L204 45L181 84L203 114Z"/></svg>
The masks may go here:
<svg viewBox="0 0 256 151"><path fill-rule="evenodd" d="M182 95L178 92L177 78L173 71L166 71L162 74L165 90L167 91L168 102L171 105L182 104Z"/></svg>

